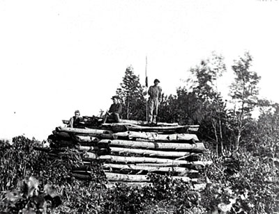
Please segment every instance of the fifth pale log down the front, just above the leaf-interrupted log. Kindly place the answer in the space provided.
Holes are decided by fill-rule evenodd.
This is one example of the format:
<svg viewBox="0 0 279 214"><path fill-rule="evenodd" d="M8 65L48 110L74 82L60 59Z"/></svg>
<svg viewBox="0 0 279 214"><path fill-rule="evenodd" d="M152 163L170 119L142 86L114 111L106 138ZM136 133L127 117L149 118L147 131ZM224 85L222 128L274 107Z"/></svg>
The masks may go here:
<svg viewBox="0 0 279 214"><path fill-rule="evenodd" d="M197 170L189 170L184 167L155 167L155 166L141 166L135 164L114 164L114 163L104 163L104 169L119 169L119 170L144 170L147 172L179 172L183 175L189 173L198 173Z"/></svg>

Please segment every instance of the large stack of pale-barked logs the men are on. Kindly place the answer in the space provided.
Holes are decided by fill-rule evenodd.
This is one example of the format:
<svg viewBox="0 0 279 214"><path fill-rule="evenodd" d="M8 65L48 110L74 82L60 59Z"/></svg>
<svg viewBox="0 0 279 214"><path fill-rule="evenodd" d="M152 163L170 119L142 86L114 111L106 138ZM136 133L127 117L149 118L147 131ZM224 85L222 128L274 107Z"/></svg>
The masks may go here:
<svg viewBox="0 0 279 214"><path fill-rule="evenodd" d="M100 124L97 117L84 117L78 128L56 127L48 138L48 152L62 156L67 149L74 149L81 155L83 163L72 169L77 179L90 180L90 165L101 161L112 185L149 184L149 172L199 183L199 170L210 163L201 161L205 148L195 135L198 129L197 125L168 123L148 126L133 120Z"/></svg>

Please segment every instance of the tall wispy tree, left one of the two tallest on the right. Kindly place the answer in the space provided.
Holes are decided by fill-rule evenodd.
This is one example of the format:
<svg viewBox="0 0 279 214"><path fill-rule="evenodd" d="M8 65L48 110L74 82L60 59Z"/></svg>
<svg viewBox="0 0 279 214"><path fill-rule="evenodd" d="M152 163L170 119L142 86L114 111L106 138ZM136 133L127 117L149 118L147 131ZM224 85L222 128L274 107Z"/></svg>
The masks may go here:
<svg viewBox="0 0 279 214"><path fill-rule="evenodd" d="M209 58L202 60L199 65L190 69L195 76L190 87L202 103L202 110L199 111L202 117L204 133L211 140L215 139L216 151L223 152L223 129L226 122L226 105L223 97L218 92L218 79L226 72L224 57L213 52ZM190 83L190 80L188 80ZM206 132L207 130L207 132ZM220 149L218 149L220 145Z"/></svg>

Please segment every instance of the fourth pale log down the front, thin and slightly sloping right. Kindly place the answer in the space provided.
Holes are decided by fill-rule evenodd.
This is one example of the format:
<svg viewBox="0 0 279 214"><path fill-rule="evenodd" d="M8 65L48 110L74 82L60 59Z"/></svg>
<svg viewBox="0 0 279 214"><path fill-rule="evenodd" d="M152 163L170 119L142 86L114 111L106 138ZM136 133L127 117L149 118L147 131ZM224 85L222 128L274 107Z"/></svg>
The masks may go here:
<svg viewBox="0 0 279 214"><path fill-rule="evenodd" d="M100 156L100 159L110 160L111 163L171 163L173 165L193 165L197 161L172 160L167 158L129 157L129 156Z"/></svg>

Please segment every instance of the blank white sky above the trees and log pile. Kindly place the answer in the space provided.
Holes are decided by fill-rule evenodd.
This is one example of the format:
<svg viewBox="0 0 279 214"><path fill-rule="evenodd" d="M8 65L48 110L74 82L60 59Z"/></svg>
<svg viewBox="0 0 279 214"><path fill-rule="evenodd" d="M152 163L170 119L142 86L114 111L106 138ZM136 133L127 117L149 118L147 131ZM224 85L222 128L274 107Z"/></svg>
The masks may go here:
<svg viewBox="0 0 279 214"><path fill-rule="evenodd" d="M128 65L165 94L211 51L254 57L260 94L279 102L279 1L0 0L0 138L47 138L76 109L110 107ZM221 82L224 95L232 71Z"/></svg>

